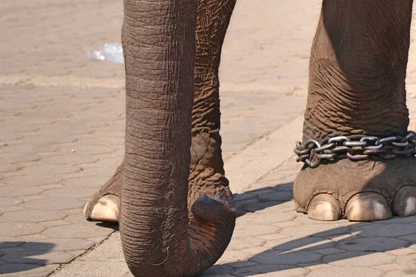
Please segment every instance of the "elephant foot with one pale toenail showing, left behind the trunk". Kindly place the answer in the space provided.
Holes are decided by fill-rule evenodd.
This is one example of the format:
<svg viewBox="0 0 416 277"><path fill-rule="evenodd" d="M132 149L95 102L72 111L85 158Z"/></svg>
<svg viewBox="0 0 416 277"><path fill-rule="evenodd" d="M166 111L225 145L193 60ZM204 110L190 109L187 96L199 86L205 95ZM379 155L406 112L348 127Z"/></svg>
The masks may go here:
<svg viewBox="0 0 416 277"><path fill-rule="evenodd" d="M84 215L96 221L119 222L120 195L123 186L123 164L84 207Z"/></svg>

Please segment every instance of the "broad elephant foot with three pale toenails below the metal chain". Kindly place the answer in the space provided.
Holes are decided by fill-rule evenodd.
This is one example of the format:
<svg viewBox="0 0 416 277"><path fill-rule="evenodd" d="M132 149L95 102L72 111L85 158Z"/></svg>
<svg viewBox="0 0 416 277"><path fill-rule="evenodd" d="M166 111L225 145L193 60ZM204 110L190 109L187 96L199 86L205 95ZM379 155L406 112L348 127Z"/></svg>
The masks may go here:
<svg viewBox="0 0 416 277"><path fill-rule="evenodd" d="M304 166L293 184L297 211L313 220L387 220L416 215L416 158L342 159Z"/></svg>

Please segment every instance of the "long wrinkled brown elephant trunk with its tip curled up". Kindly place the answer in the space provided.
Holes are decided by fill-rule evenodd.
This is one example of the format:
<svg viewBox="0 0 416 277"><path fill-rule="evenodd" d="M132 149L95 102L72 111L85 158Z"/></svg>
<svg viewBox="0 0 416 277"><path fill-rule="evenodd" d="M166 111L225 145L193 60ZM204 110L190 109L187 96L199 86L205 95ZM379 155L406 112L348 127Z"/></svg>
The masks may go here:
<svg viewBox="0 0 416 277"><path fill-rule="evenodd" d="M231 195L202 196L188 219L197 1L125 0L125 183L121 240L135 276L192 276L232 236Z"/></svg>

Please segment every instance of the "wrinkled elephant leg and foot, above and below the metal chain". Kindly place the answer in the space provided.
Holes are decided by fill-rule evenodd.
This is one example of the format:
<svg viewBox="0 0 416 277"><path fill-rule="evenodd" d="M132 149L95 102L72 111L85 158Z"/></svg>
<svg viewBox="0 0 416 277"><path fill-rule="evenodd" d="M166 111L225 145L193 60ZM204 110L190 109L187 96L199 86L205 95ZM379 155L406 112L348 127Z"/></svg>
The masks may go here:
<svg viewBox="0 0 416 277"><path fill-rule="evenodd" d="M406 136L413 0L324 0L311 50L304 138ZM416 214L416 158L338 159L304 166L297 210L315 220Z"/></svg>

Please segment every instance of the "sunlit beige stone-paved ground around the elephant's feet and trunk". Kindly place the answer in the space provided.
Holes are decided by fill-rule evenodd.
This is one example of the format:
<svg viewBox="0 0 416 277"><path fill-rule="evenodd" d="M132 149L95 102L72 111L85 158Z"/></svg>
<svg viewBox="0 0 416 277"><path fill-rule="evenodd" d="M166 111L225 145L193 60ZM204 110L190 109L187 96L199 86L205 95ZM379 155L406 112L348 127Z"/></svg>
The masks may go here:
<svg viewBox="0 0 416 277"><path fill-rule="evenodd" d="M416 217L322 223L293 211L300 165L291 151L302 135L319 4L236 6L220 74L225 166L239 218L225 255L202 276L416 276ZM0 3L4 276L131 276L117 226L82 215L123 157L125 116L123 65L89 61L83 49L119 42L121 14L114 0ZM410 111L415 56L413 47ZM410 117L415 129L416 113Z"/></svg>

